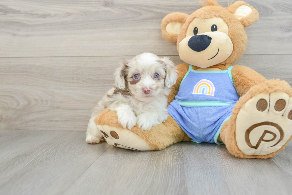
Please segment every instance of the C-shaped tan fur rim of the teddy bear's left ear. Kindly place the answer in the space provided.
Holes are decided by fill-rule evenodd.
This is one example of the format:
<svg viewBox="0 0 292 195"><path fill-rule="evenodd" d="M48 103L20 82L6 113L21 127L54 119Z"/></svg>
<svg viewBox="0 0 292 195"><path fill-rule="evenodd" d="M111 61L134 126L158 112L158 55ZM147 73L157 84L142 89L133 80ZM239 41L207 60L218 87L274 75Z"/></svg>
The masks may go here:
<svg viewBox="0 0 292 195"><path fill-rule="evenodd" d="M170 13L164 17L161 22L161 32L164 39L169 42L176 42L178 34L170 34L166 32L166 25L170 22L180 22L184 24L189 15L185 13Z"/></svg>

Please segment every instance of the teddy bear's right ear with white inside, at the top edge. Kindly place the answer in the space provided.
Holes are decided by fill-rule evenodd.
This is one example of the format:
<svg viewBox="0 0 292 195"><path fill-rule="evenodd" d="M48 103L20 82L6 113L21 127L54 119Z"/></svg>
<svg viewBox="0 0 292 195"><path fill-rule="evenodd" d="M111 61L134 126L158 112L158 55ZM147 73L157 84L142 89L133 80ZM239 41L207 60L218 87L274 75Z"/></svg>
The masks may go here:
<svg viewBox="0 0 292 195"><path fill-rule="evenodd" d="M259 19L259 13L244 1L236 1L227 10L232 13L244 27L248 27Z"/></svg>

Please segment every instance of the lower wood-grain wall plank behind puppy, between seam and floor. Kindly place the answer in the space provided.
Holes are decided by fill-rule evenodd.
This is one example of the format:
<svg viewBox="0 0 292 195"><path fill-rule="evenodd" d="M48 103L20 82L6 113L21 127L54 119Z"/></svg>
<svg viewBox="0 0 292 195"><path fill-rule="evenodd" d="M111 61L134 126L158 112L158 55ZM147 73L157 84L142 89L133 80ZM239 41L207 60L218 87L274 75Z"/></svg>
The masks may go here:
<svg viewBox="0 0 292 195"><path fill-rule="evenodd" d="M114 85L114 69L131 57L1 58L0 130L86 130L91 109ZM292 55L245 55L236 64L292 85L291 61Z"/></svg>

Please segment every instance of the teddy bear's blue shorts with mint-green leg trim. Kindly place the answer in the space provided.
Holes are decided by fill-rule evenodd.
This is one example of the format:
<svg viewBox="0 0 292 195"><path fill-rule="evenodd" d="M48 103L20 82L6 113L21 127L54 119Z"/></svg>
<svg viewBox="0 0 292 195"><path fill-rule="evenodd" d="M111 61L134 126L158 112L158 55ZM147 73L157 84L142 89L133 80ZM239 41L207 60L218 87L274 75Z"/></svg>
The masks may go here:
<svg viewBox="0 0 292 195"><path fill-rule="evenodd" d="M196 143L218 142L222 125L230 118L235 104L212 107L184 107L174 100L168 113Z"/></svg>

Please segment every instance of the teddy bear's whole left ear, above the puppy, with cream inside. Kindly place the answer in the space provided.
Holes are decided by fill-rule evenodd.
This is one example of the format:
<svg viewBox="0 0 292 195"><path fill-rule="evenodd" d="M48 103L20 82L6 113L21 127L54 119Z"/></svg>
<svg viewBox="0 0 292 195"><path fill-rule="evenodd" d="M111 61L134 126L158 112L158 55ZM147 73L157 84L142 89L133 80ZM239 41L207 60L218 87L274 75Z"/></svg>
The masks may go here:
<svg viewBox="0 0 292 195"><path fill-rule="evenodd" d="M176 42L181 27L189 15L185 13L170 13L164 17L161 23L162 36L169 42Z"/></svg>

